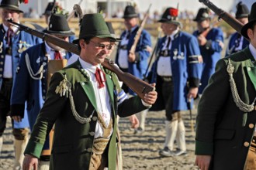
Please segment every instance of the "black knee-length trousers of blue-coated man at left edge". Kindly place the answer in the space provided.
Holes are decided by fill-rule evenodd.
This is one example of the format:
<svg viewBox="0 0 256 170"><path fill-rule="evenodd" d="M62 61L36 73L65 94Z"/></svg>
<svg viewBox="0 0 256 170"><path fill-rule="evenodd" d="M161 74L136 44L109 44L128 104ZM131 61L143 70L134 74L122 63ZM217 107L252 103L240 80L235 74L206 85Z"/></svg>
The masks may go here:
<svg viewBox="0 0 256 170"><path fill-rule="evenodd" d="M0 137L6 128L6 117L10 113L10 100L12 93L12 79L2 80L2 87L0 90ZM13 122L12 122L13 126Z"/></svg>

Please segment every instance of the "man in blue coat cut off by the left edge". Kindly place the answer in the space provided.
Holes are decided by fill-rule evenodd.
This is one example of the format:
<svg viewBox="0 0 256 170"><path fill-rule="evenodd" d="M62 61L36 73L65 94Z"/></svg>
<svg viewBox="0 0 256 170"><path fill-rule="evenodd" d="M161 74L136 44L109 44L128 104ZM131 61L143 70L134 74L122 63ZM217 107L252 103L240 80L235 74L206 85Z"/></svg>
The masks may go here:
<svg viewBox="0 0 256 170"><path fill-rule="evenodd" d="M0 151L2 149L2 134L5 131L6 117L10 112L10 98L12 83L16 76L16 67L23 50L33 46L40 39L20 32L16 27L9 24L7 19L19 22L18 0L2 0L0 4L2 24L0 25ZM24 108L23 108L24 111ZM21 122L13 122L15 162L14 168L21 168L24 158L23 151L26 147L29 134L29 123L26 114Z"/></svg>

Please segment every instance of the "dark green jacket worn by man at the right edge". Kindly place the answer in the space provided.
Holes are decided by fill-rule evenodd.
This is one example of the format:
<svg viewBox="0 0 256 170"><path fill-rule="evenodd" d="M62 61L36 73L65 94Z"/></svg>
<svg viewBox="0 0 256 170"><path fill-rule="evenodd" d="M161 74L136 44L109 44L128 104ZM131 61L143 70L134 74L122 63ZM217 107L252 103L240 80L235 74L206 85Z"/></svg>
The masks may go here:
<svg viewBox="0 0 256 170"><path fill-rule="evenodd" d="M213 155L209 169L244 169L254 134L256 110L244 112L234 102L227 63L234 66L234 81L240 99L253 104L256 97L256 63L250 49L220 59L216 72L199 101L195 155Z"/></svg>

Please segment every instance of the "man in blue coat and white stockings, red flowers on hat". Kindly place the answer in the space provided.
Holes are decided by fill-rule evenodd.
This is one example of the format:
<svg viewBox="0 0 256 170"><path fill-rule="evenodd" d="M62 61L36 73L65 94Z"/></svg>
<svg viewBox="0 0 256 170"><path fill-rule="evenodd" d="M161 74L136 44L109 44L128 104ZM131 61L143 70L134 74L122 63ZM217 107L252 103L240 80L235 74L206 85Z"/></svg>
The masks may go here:
<svg viewBox="0 0 256 170"><path fill-rule="evenodd" d="M182 110L189 109L188 102L198 93L202 56L195 36L181 31L177 8L167 8L159 22L165 36L157 44L157 59L148 76L151 82L157 83L158 93L151 109L165 110L166 114L164 149L159 154L165 157L185 155Z"/></svg>

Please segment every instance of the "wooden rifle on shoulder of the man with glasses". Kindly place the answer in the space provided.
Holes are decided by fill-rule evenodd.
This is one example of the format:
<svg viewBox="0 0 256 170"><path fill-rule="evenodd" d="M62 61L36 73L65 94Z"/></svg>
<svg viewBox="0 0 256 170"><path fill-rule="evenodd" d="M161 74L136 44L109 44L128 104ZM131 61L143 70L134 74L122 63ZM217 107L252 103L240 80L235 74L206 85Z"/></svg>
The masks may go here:
<svg viewBox="0 0 256 170"><path fill-rule="evenodd" d="M37 36L47 42L53 43L56 46L60 46L61 48L66 49L67 51L80 56L80 51L78 50L78 46L72 44L71 42L66 42L63 39L59 39L55 36L51 36L50 34L39 32L35 29L30 29L27 26L23 26L22 24L13 22L12 19L8 19L8 22L10 22L14 26L19 27L20 30L28 32L33 36ZM106 58L104 63L102 63L102 66L116 73L119 80L123 81L123 83L126 83L126 85L130 87L130 89L133 90L135 93L137 93L137 95L141 99L144 99L145 93L155 90L155 88L151 86L149 83L146 83L143 80L138 79L136 76L133 76L130 73L123 73L123 71L119 70L118 66L114 65L114 62L111 59Z"/></svg>

